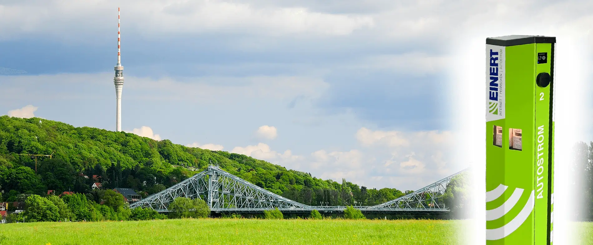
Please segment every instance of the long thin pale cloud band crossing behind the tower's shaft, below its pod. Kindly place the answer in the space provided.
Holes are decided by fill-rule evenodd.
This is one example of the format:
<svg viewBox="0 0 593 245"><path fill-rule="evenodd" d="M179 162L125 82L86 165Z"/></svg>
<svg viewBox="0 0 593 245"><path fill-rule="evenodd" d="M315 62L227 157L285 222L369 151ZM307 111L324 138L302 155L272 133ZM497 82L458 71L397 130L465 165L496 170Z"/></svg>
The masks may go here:
<svg viewBox="0 0 593 245"><path fill-rule="evenodd" d="M111 72L95 74L55 74L20 75L1 77L3 88L0 102L9 103L23 96L33 96L46 100L65 100L69 98L98 97L97 93L87 93L88 85L106 88L106 80L113 79ZM36 84L53 84L46 90L30 90ZM81 93L64 90L69 87ZM189 77L189 78L151 78L126 76L124 85L126 100L173 100L197 101L208 104L228 103L228 98L253 100L270 98L292 100L297 96L317 98L325 93L329 84L321 78L260 76L260 77ZM109 91L113 88L109 88ZM51 91L52 93L47 93ZM103 95L100 95L103 97Z"/></svg>

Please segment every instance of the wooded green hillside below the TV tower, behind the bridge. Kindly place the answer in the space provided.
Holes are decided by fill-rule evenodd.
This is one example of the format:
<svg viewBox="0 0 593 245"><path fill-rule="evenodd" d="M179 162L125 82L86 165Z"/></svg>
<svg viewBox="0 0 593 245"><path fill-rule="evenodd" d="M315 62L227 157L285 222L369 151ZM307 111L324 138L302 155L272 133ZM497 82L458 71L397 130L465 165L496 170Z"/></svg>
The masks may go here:
<svg viewBox="0 0 593 245"><path fill-rule="evenodd" d="M53 157L39 157L36 164L21 154ZM21 194L45 196L47 190L92 194L94 182L104 189L131 188L144 198L205 170L211 163L306 205L375 205L412 192L368 189L344 179L342 183L322 180L246 155L185 147L167 139L155 141L133 133L75 128L37 117L0 116L0 201L15 201Z"/></svg>

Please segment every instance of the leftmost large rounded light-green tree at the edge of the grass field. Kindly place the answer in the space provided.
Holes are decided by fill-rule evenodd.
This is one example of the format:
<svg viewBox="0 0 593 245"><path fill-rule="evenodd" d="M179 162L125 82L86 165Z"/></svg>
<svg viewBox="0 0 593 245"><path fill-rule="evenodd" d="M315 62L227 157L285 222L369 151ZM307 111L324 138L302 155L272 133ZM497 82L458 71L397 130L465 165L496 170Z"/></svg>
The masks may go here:
<svg viewBox="0 0 593 245"><path fill-rule="evenodd" d="M58 221L60 218L58 207L39 195L31 195L25 201L27 210L24 212L25 221Z"/></svg>

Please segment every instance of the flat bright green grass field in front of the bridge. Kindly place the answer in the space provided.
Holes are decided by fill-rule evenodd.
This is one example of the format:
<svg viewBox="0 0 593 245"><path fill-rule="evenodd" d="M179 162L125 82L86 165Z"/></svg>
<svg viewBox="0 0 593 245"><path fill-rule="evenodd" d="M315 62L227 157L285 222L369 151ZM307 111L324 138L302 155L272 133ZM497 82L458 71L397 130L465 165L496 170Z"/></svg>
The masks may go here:
<svg viewBox="0 0 593 245"><path fill-rule="evenodd" d="M164 219L0 224L0 244L460 244L464 221Z"/></svg>

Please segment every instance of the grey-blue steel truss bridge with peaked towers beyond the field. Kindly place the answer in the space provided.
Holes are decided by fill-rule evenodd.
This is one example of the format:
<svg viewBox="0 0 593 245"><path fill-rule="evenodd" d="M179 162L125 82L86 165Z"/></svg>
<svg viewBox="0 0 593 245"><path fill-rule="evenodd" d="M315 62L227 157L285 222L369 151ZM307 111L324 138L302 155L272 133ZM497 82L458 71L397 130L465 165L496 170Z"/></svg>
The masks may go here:
<svg viewBox="0 0 593 245"><path fill-rule="evenodd" d="M448 214L442 201L447 184L452 177L432 183L400 198L374 206L355 206L363 214ZM189 179L183 180L162 192L130 204L130 208L151 208L157 212L169 212L167 206L175 198L203 199L213 214L262 214L265 210L278 208L284 214L310 214L313 209L321 214L343 214L346 206L304 205L264 190L246 180L234 176L216 166L209 166Z"/></svg>

